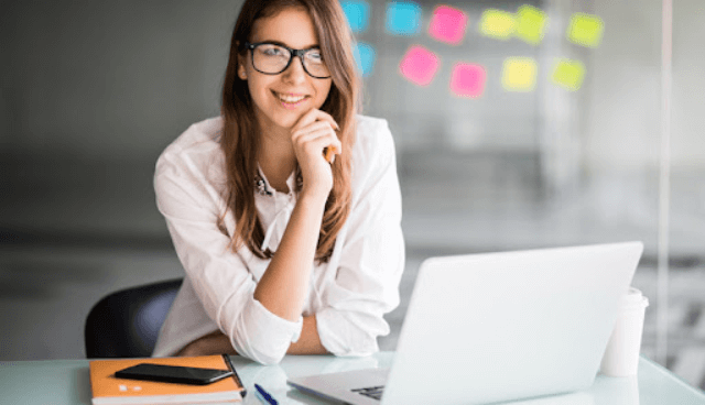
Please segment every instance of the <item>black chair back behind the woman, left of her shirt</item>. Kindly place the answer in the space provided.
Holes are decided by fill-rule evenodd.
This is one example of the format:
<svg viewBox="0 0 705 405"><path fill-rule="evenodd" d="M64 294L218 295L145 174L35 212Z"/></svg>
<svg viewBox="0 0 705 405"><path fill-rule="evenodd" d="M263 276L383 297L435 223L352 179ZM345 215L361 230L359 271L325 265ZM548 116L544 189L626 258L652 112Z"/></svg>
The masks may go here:
<svg viewBox="0 0 705 405"><path fill-rule="evenodd" d="M122 289L98 302L86 318L86 358L148 358L183 278Z"/></svg>

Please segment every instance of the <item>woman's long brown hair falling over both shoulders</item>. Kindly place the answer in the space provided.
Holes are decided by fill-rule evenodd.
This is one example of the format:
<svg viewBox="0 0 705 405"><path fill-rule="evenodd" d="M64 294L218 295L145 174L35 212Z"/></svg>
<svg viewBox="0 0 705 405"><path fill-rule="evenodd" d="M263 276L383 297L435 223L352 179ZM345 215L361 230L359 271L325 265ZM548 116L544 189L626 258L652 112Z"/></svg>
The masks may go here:
<svg viewBox="0 0 705 405"><path fill-rule="evenodd" d="M315 259L327 262L336 237L350 212L350 151L355 143L355 114L359 108L360 91L352 39L337 0L246 0L242 4L230 40L220 111L224 119L220 146L225 153L227 173L226 209L232 210L237 223L231 249L235 251L245 243L260 259L273 255L269 249L261 249L264 231L254 207L259 127L247 83L238 78L237 70L238 65L247 59L245 42L250 40L254 22L291 7L304 8L313 20L321 52L333 80L321 110L333 116L340 127L338 138L343 151L347 152L336 156L332 165L333 189L326 201L318 234ZM224 217L225 214L219 218L220 227Z"/></svg>

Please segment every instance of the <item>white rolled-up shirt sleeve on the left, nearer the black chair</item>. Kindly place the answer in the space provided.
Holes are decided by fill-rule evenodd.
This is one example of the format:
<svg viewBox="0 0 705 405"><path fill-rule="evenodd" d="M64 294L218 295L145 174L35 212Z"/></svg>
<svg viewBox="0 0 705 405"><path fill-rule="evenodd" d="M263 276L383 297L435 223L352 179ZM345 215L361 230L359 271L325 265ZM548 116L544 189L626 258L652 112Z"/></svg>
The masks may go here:
<svg viewBox="0 0 705 405"><path fill-rule="evenodd" d="M299 339L302 319L278 317L254 299L257 283L242 260L249 251L229 249L230 238L217 226L221 208L209 187L189 156L165 153L158 161L156 205L206 314L239 354L276 363Z"/></svg>

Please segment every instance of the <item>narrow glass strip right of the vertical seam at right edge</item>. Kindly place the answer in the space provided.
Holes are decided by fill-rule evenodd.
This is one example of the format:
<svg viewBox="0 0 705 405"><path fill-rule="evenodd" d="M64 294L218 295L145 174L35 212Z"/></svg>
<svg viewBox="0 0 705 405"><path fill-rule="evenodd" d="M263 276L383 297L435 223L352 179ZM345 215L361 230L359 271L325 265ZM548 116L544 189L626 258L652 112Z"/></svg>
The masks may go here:
<svg viewBox="0 0 705 405"><path fill-rule="evenodd" d="M662 239L669 242L671 260L669 275L662 278L665 283L660 283L662 294L669 296L668 317L662 321L668 339L660 340L668 343L670 369L705 388L705 8L695 0L663 0L662 19L664 44L671 45L665 47L662 67L669 157L662 198L670 207Z"/></svg>

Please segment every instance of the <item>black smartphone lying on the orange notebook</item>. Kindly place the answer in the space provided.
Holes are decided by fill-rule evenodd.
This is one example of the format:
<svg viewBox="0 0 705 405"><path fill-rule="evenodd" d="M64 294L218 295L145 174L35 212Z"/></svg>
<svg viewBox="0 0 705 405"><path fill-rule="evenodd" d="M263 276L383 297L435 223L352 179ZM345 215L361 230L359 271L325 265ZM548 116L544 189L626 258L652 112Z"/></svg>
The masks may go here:
<svg viewBox="0 0 705 405"><path fill-rule="evenodd" d="M181 365L140 363L116 371L118 379L161 381L166 383L206 385L232 375L230 370L199 369Z"/></svg>

